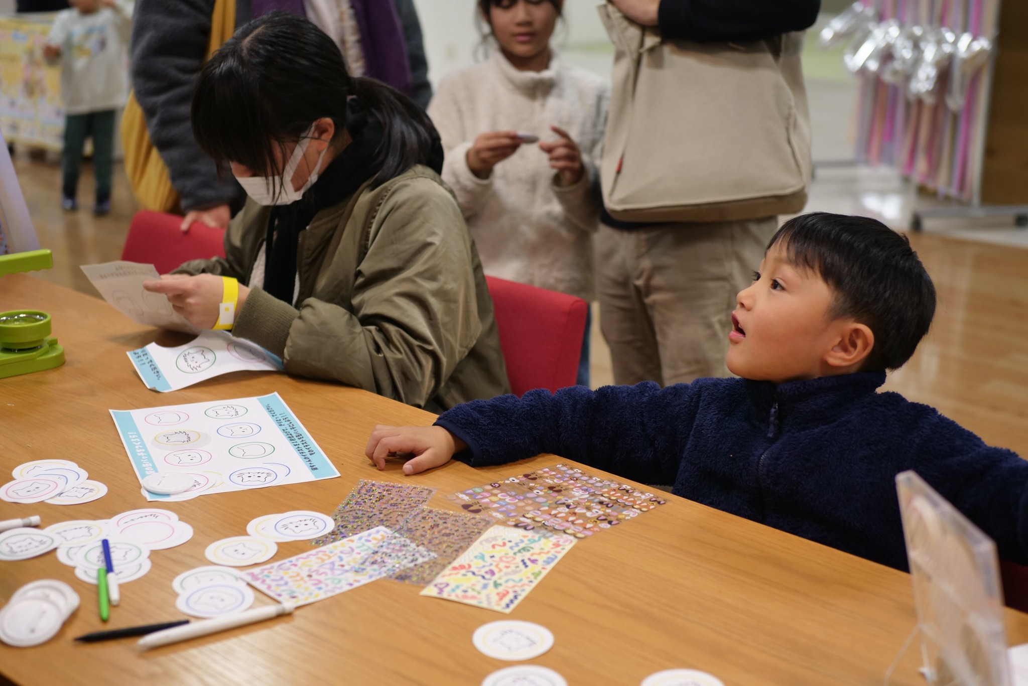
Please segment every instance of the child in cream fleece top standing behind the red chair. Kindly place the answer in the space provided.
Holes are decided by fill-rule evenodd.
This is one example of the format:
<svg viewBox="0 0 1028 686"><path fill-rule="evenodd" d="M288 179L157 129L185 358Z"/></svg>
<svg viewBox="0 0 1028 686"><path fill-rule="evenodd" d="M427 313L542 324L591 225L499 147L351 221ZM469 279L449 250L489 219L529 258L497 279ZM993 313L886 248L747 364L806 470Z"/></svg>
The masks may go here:
<svg viewBox="0 0 1028 686"><path fill-rule="evenodd" d="M591 301L609 86L550 47L561 4L478 0L498 49L443 78L429 116L485 273ZM589 384L588 322L577 383Z"/></svg>

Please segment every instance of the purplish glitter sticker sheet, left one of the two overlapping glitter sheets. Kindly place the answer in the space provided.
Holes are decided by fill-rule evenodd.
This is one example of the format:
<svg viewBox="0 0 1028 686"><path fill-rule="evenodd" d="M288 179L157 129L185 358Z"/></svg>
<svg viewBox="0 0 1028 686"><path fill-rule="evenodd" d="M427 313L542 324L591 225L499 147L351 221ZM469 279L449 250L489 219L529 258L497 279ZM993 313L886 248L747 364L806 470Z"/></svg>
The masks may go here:
<svg viewBox="0 0 1028 686"><path fill-rule="evenodd" d="M334 543L375 527L396 531L435 492L436 489L424 485L361 479L332 513L335 529L315 539L313 545Z"/></svg>

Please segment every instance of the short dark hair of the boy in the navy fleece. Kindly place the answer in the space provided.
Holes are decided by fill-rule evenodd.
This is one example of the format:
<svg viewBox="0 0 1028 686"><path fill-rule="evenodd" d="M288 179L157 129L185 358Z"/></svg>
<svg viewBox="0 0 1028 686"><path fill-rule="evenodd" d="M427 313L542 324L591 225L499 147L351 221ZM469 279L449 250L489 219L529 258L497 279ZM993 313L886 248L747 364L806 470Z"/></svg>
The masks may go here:
<svg viewBox="0 0 1028 686"><path fill-rule="evenodd" d="M768 250L778 243L835 291L831 317L852 317L875 334L862 370L910 359L931 326L935 287L906 236L869 217L813 212L782 224Z"/></svg>

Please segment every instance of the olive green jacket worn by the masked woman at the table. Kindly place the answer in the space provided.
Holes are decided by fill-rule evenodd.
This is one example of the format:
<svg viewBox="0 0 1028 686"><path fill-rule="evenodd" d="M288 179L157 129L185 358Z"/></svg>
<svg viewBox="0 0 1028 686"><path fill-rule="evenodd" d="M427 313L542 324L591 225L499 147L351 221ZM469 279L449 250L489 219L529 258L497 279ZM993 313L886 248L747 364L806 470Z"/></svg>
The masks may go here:
<svg viewBox="0 0 1028 686"><path fill-rule="evenodd" d="M225 257L181 274L248 284L270 208L248 201ZM431 411L510 393L478 252L452 191L415 166L315 215L297 246L294 308L249 284L232 333L327 378Z"/></svg>

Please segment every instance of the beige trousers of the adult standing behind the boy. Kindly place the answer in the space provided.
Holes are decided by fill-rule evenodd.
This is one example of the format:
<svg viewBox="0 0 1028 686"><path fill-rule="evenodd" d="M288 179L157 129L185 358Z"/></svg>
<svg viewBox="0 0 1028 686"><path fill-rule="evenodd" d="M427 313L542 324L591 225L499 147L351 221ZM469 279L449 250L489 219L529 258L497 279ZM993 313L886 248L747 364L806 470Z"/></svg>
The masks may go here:
<svg viewBox="0 0 1028 686"><path fill-rule="evenodd" d="M735 295L752 281L776 217L596 234L600 329L615 384L728 376Z"/></svg>

